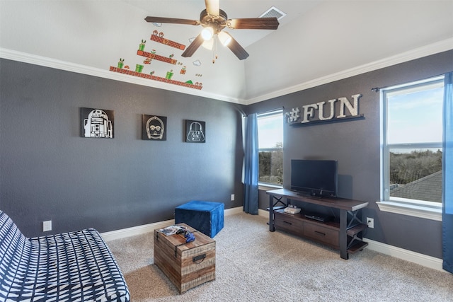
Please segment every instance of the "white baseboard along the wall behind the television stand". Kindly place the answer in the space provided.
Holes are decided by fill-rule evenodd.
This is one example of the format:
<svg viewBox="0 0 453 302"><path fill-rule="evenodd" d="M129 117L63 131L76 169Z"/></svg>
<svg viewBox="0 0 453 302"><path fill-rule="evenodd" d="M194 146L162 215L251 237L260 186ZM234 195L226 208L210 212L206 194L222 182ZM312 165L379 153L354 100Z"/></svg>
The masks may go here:
<svg viewBox="0 0 453 302"><path fill-rule="evenodd" d="M269 211L259 209L258 215L269 218ZM368 243L367 248L369 248L369 250L374 250L375 252L380 252L384 255L389 255L391 257L413 262L418 265L423 265L424 267L430 267L431 269L446 272L442 269L442 259L423 255L419 252L413 252L411 250L404 250L403 248L397 248L396 246L380 243L379 241L374 241L368 238L363 238L363 240Z"/></svg>

